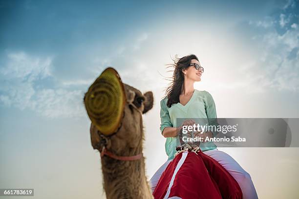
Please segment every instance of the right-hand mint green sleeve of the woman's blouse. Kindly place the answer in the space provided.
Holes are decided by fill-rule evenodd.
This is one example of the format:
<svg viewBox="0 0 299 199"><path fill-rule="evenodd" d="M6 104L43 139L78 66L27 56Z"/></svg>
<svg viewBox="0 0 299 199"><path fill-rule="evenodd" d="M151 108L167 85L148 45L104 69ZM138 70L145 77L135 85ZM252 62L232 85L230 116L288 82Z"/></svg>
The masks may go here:
<svg viewBox="0 0 299 199"><path fill-rule="evenodd" d="M206 91L206 93L207 93L207 97L206 97L206 101L205 101L205 108L206 108L206 114L208 117L208 122L209 122L209 125L216 126L216 129L217 129L217 126L219 124L217 121L215 102L213 100L212 95L208 91ZM213 136L215 137L218 135L219 132L215 131L215 127L213 127L212 133L213 133Z"/></svg>

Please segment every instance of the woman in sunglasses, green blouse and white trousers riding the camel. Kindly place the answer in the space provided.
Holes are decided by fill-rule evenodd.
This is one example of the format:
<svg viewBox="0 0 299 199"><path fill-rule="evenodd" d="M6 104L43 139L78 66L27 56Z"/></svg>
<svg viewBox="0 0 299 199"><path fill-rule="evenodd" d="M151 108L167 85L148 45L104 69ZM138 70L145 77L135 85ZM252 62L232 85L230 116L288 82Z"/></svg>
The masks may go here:
<svg viewBox="0 0 299 199"><path fill-rule="evenodd" d="M194 89L194 82L201 80L203 68L195 55L185 56L174 60L175 67L172 82L166 90L166 96L160 101L161 126L160 131L166 138L165 150L168 160L157 170L150 179L151 190L155 190L156 185L170 164L176 153L178 129L176 118L206 118L209 124L215 122L217 118L213 97L207 91ZM186 120L183 124L192 125L194 121ZM217 132L208 131L206 133L197 132L195 137L213 138ZM257 199L256 189L250 175L228 154L219 151L213 142L200 143L201 151L216 160L224 167L239 184L244 199Z"/></svg>

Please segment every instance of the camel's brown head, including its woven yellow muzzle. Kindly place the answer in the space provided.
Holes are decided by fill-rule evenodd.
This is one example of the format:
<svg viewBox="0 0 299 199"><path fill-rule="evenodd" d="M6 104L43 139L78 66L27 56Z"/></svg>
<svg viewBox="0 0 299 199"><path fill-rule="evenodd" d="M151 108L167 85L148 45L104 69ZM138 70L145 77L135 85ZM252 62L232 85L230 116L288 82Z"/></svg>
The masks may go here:
<svg viewBox="0 0 299 199"><path fill-rule="evenodd" d="M84 104L91 120L94 149L101 152L105 145L116 156L142 152L142 115L153 106L151 91L142 93L123 83L117 71L109 67L89 87Z"/></svg>

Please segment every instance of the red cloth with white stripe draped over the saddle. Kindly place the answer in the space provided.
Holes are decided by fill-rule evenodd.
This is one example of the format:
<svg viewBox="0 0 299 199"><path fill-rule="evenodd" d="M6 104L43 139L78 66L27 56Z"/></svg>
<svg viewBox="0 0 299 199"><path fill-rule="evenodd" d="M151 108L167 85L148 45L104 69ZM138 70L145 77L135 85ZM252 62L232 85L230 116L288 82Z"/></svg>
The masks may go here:
<svg viewBox="0 0 299 199"><path fill-rule="evenodd" d="M155 199L242 199L237 181L202 152L179 153L163 172Z"/></svg>

